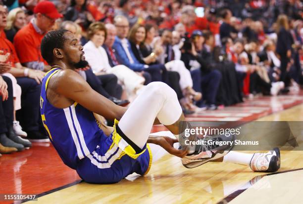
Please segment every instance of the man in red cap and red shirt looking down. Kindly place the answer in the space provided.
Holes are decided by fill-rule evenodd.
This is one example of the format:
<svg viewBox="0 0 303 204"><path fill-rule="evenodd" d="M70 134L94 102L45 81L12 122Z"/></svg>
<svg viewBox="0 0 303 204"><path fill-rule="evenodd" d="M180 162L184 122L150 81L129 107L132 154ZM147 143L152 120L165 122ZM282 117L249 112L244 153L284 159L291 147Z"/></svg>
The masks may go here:
<svg viewBox="0 0 303 204"><path fill-rule="evenodd" d="M50 66L42 58L41 40L52 30L55 20L62 17L55 5L50 1L41 1L34 8L35 18L19 30L14 38L14 46L21 64L26 67L48 71Z"/></svg>

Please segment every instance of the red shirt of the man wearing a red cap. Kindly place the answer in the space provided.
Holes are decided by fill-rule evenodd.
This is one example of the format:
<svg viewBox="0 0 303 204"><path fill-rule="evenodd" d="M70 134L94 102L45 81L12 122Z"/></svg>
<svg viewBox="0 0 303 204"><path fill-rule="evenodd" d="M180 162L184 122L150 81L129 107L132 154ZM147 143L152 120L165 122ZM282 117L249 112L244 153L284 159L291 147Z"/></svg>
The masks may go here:
<svg viewBox="0 0 303 204"><path fill-rule="evenodd" d="M41 55L41 41L45 34L38 33L33 24L29 23L20 29L14 37L14 46L21 63L39 61L48 63Z"/></svg>

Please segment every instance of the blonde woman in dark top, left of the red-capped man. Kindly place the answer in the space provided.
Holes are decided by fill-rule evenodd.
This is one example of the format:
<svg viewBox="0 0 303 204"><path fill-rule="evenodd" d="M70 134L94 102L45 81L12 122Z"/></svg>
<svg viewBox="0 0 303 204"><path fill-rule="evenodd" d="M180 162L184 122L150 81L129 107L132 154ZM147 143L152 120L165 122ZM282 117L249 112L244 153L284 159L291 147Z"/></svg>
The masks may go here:
<svg viewBox="0 0 303 204"><path fill-rule="evenodd" d="M26 25L25 12L21 8L14 8L7 15L7 25L4 30L6 38L13 42L16 33Z"/></svg>

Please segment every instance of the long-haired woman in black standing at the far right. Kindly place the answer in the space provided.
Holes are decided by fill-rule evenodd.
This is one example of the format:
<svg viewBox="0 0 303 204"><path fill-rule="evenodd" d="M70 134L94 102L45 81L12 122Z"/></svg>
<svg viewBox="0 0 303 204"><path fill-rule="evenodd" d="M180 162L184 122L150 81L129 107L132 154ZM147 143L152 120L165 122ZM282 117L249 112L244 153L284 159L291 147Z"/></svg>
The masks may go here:
<svg viewBox="0 0 303 204"><path fill-rule="evenodd" d="M288 86L290 80L287 77L287 67L292 57L292 44L294 39L289 32L288 17L286 15L279 15L277 20L277 47L276 52L280 55L281 60L281 76L280 80Z"/></svg>

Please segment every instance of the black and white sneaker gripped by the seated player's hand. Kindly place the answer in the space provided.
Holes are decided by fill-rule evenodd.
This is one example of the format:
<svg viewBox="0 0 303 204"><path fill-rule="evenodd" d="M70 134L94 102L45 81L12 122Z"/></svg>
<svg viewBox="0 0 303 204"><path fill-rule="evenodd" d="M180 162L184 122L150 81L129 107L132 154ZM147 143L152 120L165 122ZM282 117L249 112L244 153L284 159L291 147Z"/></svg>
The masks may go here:
<svg viewBox="0 0 303 204"><path fill-rule="evenodd" d="M200 140L204 141L204 143L201 142L201 145L196 145L196 150L194 153L187 155L181 159L182 164L185 167L194 168L204 163L224 157L227 153L229 153L229 151L233 149L235 135L206 136ZM210 145L210 141L213 143L212 145ZM218 142L229 143L228 145L219 145Z"/></svg>

